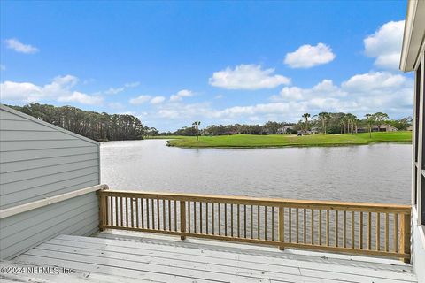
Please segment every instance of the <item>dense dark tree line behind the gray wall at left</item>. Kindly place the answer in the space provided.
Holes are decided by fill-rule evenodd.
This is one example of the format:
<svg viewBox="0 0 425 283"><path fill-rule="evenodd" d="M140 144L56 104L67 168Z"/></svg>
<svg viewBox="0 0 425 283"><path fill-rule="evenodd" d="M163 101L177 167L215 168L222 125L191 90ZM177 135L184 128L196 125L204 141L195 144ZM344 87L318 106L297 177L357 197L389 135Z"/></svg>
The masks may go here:
<svg viewBox="0 0 425 283"><path fill-rule="evenodd" d="M129 114L98 113L73 106L56 107L39 103L8 106L95 141L141 140L145 134L152 132L151 128L143 126L140 119Z"/></svg>

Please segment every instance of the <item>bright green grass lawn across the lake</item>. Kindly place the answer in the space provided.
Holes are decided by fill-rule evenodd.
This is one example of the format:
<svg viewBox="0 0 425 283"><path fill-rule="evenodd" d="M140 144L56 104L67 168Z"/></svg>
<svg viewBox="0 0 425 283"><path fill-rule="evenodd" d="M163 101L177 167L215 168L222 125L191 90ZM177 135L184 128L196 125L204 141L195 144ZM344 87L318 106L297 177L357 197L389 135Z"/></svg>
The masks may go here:
<svg viewBox="0 0 425 283"><path fill-rule="evenodd" d="M172 139L167 137L168 139ZM257 147L308 147L361 145L372 142L412 142L412 132L390 132L363 134L310 134L310 135L252 135L234 134L220 136L178 137L169 145L182 148L257 148Z"/></svg>

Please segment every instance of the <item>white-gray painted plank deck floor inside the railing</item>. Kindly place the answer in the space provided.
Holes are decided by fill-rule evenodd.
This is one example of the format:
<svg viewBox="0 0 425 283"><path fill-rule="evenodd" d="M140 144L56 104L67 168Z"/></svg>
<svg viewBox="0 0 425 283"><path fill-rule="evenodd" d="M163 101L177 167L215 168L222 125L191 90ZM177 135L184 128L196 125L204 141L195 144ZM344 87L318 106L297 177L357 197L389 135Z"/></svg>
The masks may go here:
<svg viewBox="0 0 425 283"><path fill-rule="evenodd" d="M73 275L0 274L2 282L416 282L398 260L205 241L146 233L60 235L12 262Z"/></svg>

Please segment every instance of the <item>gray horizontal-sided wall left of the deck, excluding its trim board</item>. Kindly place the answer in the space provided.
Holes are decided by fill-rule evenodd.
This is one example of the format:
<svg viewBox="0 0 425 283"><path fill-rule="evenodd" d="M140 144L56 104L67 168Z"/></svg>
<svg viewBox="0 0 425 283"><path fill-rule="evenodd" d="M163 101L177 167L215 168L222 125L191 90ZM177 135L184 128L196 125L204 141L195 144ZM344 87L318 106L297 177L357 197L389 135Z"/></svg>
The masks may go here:
<svg viewBox="0 0 425 283"><path fill-rule="evenodd" d="M100 183L99 143L0 104L0 210ZM96 192L0 219L0 258L97 231Z"/></svg>

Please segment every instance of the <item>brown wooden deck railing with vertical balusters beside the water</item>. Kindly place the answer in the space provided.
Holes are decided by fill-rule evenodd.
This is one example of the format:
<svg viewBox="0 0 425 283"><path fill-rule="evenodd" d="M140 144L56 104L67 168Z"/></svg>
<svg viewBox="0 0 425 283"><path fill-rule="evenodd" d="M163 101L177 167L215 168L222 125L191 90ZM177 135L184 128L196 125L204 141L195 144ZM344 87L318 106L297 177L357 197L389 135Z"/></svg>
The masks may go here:
<svg viewBox="0 0 425 283"><path fill-rule="evenodd" d="M100 229L410 260L410 206L99 191Z"/></svg>

